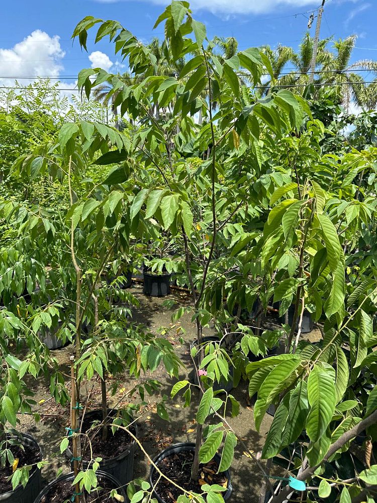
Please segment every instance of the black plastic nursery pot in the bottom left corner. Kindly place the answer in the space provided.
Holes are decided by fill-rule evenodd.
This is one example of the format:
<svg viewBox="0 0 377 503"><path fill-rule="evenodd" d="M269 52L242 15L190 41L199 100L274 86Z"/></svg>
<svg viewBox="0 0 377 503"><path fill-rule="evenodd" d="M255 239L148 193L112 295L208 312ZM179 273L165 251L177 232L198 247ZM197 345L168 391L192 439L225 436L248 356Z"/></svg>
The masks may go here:
<svg viewBox="0 0 377 503"><path fill-rule="evenodd" d="M23 438L23 445L29 445L31 447L37 448L40 453L40 460L42 461L42 448L37 443L37 441L27 433L20 433ZM40 468L35 468L30 474L29 481L25 488L22 485L16 487L14 491L4 492L0 494L1 503L31 503L38 496L42 487L41 480L41 470Z"/></svg>

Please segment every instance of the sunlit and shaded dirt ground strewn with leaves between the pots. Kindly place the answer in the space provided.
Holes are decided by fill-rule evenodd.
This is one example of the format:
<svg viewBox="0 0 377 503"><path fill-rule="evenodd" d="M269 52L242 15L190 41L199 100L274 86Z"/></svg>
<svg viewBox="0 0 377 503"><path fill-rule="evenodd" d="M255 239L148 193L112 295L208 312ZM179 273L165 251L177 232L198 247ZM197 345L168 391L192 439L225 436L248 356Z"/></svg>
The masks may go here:
<svg viewBox="0 0 377 503"><path fill-rule="evenodd" d="M142 293L142 285L134 283L130 289L140 301L140 307L133 309L133 318L149 326L149 328L157 333L161 326L171 327L171 314L176 308L171 310L162 306L164 298L146 297ZM190 303L190 298L186 293L180 291L172 291L167 297L175 300L180 305ZM180 325L186 330L184 336L185 343L180 344L179 336L174 333L176 327ZM187 377L190 371L190 355L189 344L195 339L195 325L191 321L190 314L184 314L180 318L176 327L170 330L168 339L174 345L177 354L187 366L182 369L180 378ZM210 334L211 330L207 330ZM318 332L314 329L310 333L310 340L318 340ZM68 370L69 357L72 354L73 347L66 346L63 349L51 352L58 359L62 368ZM171 422L163 421L157 414L155 404L160 401L161 397L166 394L170 396L170 389L174 381L166 374L162 365L155 371L153 377L162 382L162 388L158 396L147 396L145 401L148 406L142 408L141 418L138 422L139 438L148 452L153 458L162 449L177 442L195 442L195 407L192 409L183 408L183 401L176 397L174 400L166 401L166 409L171 418ZM109 405L114 405L120 401L120 405L128 404L130 401L127 396L127 391L135 385L135 379L130 379L127 375L121 378L122 386L114 397L109 397ZM45 482L53 480L55 473L59 467L63 468L63 472L70 471L69 464L64 455L60 454L61 437L65 435L64 428L69 425L69 407L63 409L57 406L50 398L49 381L39 379L37 384L31 383L35 392L35 400L38 404L35 410L41 414L41 421L34 422L33 416L20 415L20 430L28 432L42 444L44 450L44 458L49 461L48 466L43 468L43 477ZM97 408L101 403L100 385L95 387L90 395L90 408ZM237 389L232 392L241 404L240 414L230 420L233 429L244 440L248 448L257 453L261 450L265 438L272 422L272 417L265 415L262 422L260 432L255 431L254 417L252 405L249 405L247 383L241 382ZM123 398L122 398L123 396ZM195 396L193 396L195 403ZM244 453L241 445L235 449L234 461L231 467L231 483L233 486L233 494L231 500L237 500L238 503L254 503L258 500L258 495L261 486L261 476L255 463L249 459ZM146 478L149 476L149 463L143 453L137 449L135 456L134 477Z"/></svg>

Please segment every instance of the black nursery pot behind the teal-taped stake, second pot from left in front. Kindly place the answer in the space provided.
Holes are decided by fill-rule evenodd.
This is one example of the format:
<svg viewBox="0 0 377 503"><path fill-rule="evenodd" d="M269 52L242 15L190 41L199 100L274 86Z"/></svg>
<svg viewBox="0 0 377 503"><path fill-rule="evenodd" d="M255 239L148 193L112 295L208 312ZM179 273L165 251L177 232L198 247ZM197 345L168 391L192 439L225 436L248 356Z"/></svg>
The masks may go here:
<svg viewBox="0 0 377 503"><path fill-rule="evenodd" d="M90 418L92 418L92 421L96 421L97 417L99 415L99 412L102 414L102 411L99 410L91 410L90 412L87 412L85 414L85 418L90 421ZM109 410L109 415L115 415L116 410ZM137 436L137 427L136 425L133 426L133 429L135 431L135 435ZM110 430L110 427L109 427ZM109 435L109 441L111 440L112 432L108 432ZM135 450L136 450L136 442L135 440L132 441L131 445L124 451L115 456L114 458L108 458L100 462L100 470L103 471L104 473L107 473L113 477L115 477L117 480L121 482L122 485L128 484L134 477L134 457L135 457ZM65 451L68 459L73 458L73 453L68 447L67 450ZM103 457L103 456L101 456ZM82 460L82 467L84 470L86 470L89 467L90 461L87 461L85 459ZM73 468L73 462L71 461L71 467Z"/></svg>

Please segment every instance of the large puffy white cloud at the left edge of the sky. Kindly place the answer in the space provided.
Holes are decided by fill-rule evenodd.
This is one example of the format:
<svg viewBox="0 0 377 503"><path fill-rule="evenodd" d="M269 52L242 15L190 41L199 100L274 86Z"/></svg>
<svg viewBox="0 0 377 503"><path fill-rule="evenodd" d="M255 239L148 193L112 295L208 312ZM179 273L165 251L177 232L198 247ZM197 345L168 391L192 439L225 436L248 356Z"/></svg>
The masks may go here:
<svg viewBox="0 0 377 503"><path fill-rule="evenodd" d="M22 84L32 82L34 76L57 76L63 69L61 60L64 54L57 35L50 37L35 30L12 49L0 48L0 83L13 85L14 80L5 76L31 77L22 79Z"/></svg>

